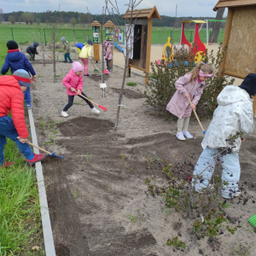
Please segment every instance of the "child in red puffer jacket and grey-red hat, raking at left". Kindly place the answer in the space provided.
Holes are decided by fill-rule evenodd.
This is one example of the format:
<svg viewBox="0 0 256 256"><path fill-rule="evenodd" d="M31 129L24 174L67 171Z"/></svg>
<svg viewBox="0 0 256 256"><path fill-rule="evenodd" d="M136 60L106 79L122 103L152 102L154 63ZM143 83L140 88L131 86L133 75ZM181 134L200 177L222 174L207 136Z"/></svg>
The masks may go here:
<svg viewBox="0 0 256 256"><path fill-rule="evenodd" d="M31 79L29 74L19 69L13 76L0 77L0 166L11 166L14 163L4 161L3 148L6 144L6 137L12 139L26 157L28 166L44 160L46 154L33 154L29 147L28 131L24 115L24 96L23 92L30 87ZM12 112L12 118L9 117L9 111ZM17 138L20 137L20 140Z"/></svg>

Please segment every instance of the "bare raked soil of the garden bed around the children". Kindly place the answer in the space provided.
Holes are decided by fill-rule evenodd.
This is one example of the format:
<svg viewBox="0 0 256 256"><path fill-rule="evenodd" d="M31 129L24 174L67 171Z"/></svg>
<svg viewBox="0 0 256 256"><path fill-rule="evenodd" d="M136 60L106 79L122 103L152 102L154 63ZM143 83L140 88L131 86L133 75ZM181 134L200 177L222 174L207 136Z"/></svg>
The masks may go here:
<svg viewBox="0 0 256 256"><path fill-rule="evenodd" d="M78 61L76 54L71 56ZM241 255L241 250L244 255L247 251L256 255L255 233L247 223L256 214L255 132L243 144L240 154L241 188L251 198L246 205L237 198L230 200L226 209L238 230L235 235L224 231L217 238L197 240L192 229L194 220L183 219L172 210L166 215L163 198L148 195L144 183L152 174L164 181L160 167L148 169L147 156L174 165L187 160L191 153L197 160L202 151L202 133L196 120L192 119L189 125L194 138L178 141L176 121L164 121L153 114L143 97L144 79L132 75L126 81L136 82L137 86L125 86L118 130L113 131L124 71L114 67L105 76L108 88L102 98L101 77L92 75L91 65L91 76L84 77L83 90L108 111L94 116L86 102L75 97L69 117L64 119L61 110L67 104L67 94L61 80L72 66L58 62L57 83L53 83L50 61L44 67L39 58L36 56L37 61L32 63L38 74L37 83L32 85L38 143L66 158L48 157L43 164L58 256L226 256ZM209 120L202 122L205 129L208 124ZM190 174L188 169L181 175L187 178ZM184 251L166 246L167 239L173 236L186 243Z"/></svg>

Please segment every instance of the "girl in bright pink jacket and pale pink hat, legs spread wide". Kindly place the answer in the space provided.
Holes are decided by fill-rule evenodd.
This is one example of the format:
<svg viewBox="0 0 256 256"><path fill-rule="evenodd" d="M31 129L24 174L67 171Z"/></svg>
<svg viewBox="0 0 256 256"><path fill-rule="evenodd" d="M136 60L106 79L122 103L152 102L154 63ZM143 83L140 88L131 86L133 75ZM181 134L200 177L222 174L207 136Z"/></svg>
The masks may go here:
<svg viewBox="0 0 256 256"><path fill-rule="evenodd" d="M84 70L84 67L78 61L73 62L72 66L73 68L70 69L69 73L67 73L67 76L62 80L62 84L67 87L68 103L65 106L65 108L63 108L63 111L61 111L61 115L63 117L68 117L67 109L73 105L73 97L76 95L82 98L90 106L91 113L99 114L100 111L96 109L91 102L89 102L81 96L83 95L88 98L88 96L86 96L85 93L82 91L82 72Z"/></svg>

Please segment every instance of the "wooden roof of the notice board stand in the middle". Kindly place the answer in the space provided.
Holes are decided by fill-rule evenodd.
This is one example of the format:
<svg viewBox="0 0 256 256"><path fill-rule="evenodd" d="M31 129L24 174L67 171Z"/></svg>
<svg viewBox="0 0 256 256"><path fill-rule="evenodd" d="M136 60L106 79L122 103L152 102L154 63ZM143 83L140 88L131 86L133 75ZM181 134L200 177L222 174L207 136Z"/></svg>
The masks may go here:
<svg viewBox="0 0 256 256"><path fill-rule="evenodd" d="M126 18L131 19L131 16L132 16L132 19L150 19L150 18L157 18L159 20L161 19L155 5L153 8L134 9L132 10L132 14L131 14L131 9L127 9L122 19L123 20L125 20Z"/></svg>

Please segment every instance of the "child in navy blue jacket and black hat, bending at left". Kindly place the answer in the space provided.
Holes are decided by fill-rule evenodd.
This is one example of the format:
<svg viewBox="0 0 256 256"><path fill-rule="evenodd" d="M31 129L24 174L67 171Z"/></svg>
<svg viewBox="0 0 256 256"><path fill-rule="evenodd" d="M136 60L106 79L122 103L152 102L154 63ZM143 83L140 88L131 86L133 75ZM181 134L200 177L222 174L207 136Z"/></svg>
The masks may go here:
<svg viewBox="0 0 256 256"><path fill-rule="evenodd" d="M26 58L26 55L21 53L18 49L18 44L15 41L8 41L6 45L9 50L5 57L1 73L3 75L5 73L8 73L9 68L12 74L15 73L15 71L18 69L24 69L27 73L31 73L32 78L35 79L37 75L31 63ZM26 101L26 108L32 108L30 88L28 88L26 92L24 92L24 98Z"/></svg>

